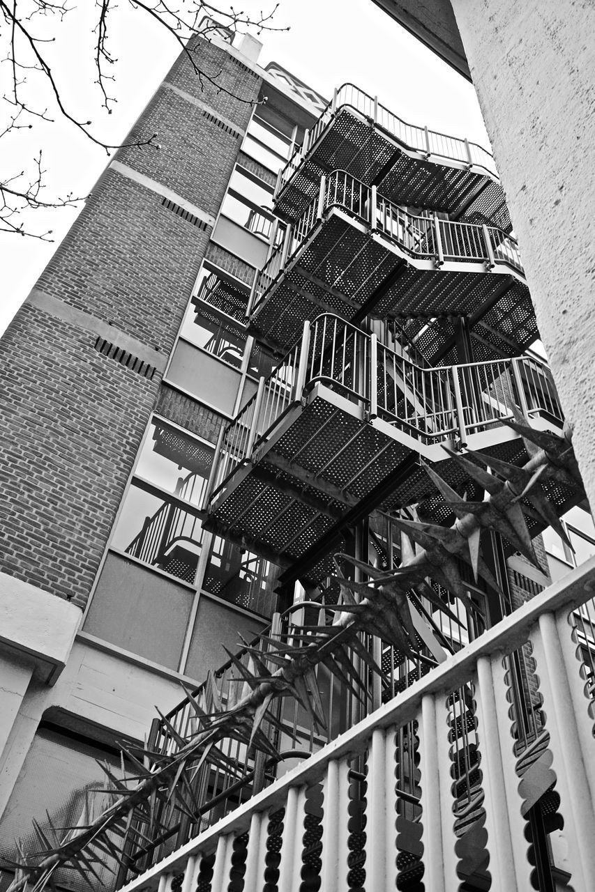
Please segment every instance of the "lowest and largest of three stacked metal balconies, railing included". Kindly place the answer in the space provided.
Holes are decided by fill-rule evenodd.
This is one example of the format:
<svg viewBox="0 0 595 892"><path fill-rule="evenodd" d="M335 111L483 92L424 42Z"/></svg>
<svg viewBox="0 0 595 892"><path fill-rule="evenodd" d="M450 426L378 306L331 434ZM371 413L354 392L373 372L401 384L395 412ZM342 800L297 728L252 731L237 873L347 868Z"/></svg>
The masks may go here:
<svg viewBox="0 0 595 892"><path fill-rule="evenodd" d="M549 370L534 359L418 368L375 335L323 314L305 323L300 343L222 429L209 524L288 566L372 492L381 491L373 508L432 496L420 456L452 485L465 483L443 443L524 458L502 425L514 409L537 427L562 425ZM399 469L398 483L382 491ZM313 582L326 572L308 571Z"/></svg>

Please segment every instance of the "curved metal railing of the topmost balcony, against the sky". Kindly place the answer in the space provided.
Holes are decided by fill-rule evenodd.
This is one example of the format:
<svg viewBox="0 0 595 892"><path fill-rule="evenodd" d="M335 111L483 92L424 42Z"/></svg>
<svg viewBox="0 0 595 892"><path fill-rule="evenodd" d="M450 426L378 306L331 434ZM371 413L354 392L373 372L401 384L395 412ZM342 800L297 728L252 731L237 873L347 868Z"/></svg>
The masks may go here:
<svg viewBox="0 0 595 892"><path fill-rule="evenodd" d="M425 157L435 155L446 161L460 161L470 167L482 168L490 174L490 177L498 179L494 159L491 153L481 145L471 143L458 136L448 136L427 127L408 124L379 103L377 97L368 95L354 84L343 84L342 87L335 90L331 102L328 103L314 127L306 131L303 144L298 147L281 170L275 193L277 196L281 194L306 155L316 145L323 135L323 131L331 126L332 121L344 109L353 109L364 115L365 118L372 120L376 128L397 139L407 149L422 153Z"/></svg>

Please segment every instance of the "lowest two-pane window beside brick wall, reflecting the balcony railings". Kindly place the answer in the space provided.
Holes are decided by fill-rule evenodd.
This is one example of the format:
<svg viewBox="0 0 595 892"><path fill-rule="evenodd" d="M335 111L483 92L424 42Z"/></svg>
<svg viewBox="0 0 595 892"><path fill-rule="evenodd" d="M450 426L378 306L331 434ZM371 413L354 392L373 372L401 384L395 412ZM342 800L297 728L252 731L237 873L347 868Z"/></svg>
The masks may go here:
<svg viewBox="0 0 595 892"><path fill-rule="evenodd" d="M165 573L194 582L203 540L201 515L214 450L161 419L149 425L112 546Z"/></svg>

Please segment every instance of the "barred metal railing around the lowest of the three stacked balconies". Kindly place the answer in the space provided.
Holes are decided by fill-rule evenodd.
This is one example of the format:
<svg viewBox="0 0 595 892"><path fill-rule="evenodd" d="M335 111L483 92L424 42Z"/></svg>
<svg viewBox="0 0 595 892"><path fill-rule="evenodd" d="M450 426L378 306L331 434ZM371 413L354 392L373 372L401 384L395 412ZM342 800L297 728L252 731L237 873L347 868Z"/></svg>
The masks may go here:
<svg viewBox="0 0 595 892"><path fill-rule="evenodd" d="M321 382L423 443L485 431L514 415L562 409L549 368L530 357L421 368L343 319L324 313L306 322L297 343L256 395L222 429L213 500L266 441L305 390Z"/></svg>

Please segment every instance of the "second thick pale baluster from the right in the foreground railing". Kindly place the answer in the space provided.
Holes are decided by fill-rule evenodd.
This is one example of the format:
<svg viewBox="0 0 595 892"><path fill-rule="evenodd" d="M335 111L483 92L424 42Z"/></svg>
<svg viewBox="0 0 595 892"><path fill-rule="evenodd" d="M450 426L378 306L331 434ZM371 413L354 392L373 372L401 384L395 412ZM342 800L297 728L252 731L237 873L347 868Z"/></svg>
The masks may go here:
<svg viewBox="0 0 595 892"><path fill-rule="evenodd" d="M531 888L502 655L477 661L475 686L492 892Z"/></svg>

